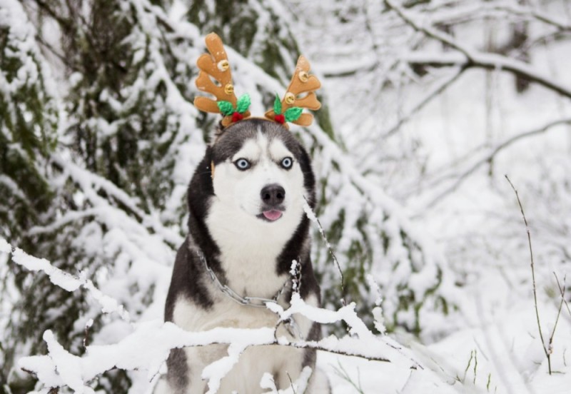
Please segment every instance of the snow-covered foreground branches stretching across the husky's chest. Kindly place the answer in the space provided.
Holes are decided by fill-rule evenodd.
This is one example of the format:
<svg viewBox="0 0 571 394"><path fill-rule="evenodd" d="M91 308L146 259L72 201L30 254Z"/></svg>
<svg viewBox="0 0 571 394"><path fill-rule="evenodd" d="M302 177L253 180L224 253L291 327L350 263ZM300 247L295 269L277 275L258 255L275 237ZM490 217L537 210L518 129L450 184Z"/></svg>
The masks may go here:
<svg viewBox="0 0 571 394"><path fill-rule="evenodd" d="M12 253L12 260L30 271L44 271L54 285L66 291L76 291L83 286L94 296L104 313L116 312L123 319L129 319L126 310L118 305L116 300L98 291L91 281L61 271L46 259L29 256L18 248L12 249L2 238L0 252ZM349 335L343 338L330 335L320 341L290 340L276 335L278 325L274 328L214 328L203 332L188 332L173 323L151 320L136 323L133 332L118 343L87 346L86 353L81 356L69 353L61 346L54 333L46 330L43 338L48 346L48 354L22 358L19 365L23 370L36 375L45 387L67 386L76 393L88 394L94 393L89 387L91 380L107 370L147 370L149 380L153 380L171 349L211 344L227 344L228 355L203 370L203 378L208 379L208 393L216 393L222 378L238 363L241 353L256 345L311 348L368 360L398 363L403 368L423 369L412 355L408 354L407 349L386 336L376 336L368 330L355 313L354 303L336 311L325 310L305 304L299 295L294 293L291 306L287 310L274 303L268 303L267 306L276 313L276 321L287 320L294 314L303 315L319 323L344 321L350 327ZM265 384L268 385L268 382Z"/></svg>

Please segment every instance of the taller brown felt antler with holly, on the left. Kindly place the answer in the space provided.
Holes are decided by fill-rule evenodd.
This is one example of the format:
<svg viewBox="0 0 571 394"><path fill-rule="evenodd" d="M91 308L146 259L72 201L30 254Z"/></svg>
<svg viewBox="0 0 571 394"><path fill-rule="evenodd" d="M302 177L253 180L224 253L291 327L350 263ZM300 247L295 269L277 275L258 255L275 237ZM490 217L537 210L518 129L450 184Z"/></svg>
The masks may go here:
<svg viewBox="0 0 571 394"><path fill-rule="evenodd" d="M238 119L250 116L250 112L246 111L250 99L248 97L248 105L246 108L241 108L240 103L238 103L238 98L236 98L236 94L234 94L234 85L232 84L232 74L230 64L228 63L228 56L226 55L226 51L224 51L222 40L218 34L208 34L205 42L210 55L202 54L196 61L198 69L201 70L196 79L196 87L198 90L216 96L216 101L207 97L196 97L194 98L194 106L201 111L222 113L224 116L222 126L226 127ZM216 79L218 84L215 84L211 78ZM231 108L224 108L224 111L222 111L220 104L224 101L231 103ZM238 116L238 118L233 116L233 108L236 108L236 111L240 113L241 116Z"/></svg>

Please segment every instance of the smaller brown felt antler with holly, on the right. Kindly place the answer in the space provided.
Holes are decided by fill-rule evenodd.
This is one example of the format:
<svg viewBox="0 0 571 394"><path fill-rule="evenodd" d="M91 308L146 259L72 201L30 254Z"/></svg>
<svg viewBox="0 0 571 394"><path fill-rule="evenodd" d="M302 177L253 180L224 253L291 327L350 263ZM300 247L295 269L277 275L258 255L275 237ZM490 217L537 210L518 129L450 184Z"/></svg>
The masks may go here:
<svg viewBox="0 0 571 394"><path fill-rule="evenodd" d="M321 103L315 95L315 90L320 88L321 83L316 76L308 74L309 70L309 61L305 57L299 56L288 91L285 92L281 102L276 98L274 108L266 112L266 118L283 123L285 127L288 126L285 123L288 121L300 126L309 126L311 124L313 115L301 113L301 108L315 111L321 107ZM309 93L302 98L298 98L298 95L305 92Z"/></svg>

